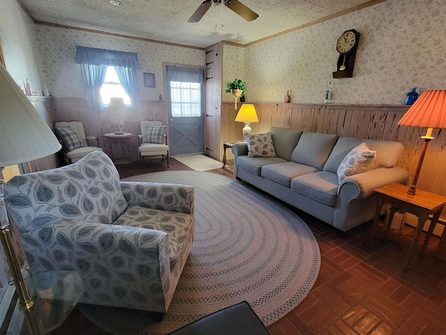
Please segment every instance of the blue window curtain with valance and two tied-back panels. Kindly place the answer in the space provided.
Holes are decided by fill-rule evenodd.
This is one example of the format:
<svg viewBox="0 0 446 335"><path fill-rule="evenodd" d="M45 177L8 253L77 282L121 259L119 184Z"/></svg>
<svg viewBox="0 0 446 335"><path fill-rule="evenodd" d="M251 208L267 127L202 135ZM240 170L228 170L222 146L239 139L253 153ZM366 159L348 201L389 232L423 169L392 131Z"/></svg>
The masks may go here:
<svg viewBox="0 0 446 335"><path fill-rule="evenodd" d="M77 45L76 63L82 66L90 110L99 110L103 107L100 87L104 84L107 66L116 67L119 80L132 101L131 107L135 108L134 101L137 96L135 77L136 70L140 68L136 53ZM123 70L118 68L123 68Z"/></svg>

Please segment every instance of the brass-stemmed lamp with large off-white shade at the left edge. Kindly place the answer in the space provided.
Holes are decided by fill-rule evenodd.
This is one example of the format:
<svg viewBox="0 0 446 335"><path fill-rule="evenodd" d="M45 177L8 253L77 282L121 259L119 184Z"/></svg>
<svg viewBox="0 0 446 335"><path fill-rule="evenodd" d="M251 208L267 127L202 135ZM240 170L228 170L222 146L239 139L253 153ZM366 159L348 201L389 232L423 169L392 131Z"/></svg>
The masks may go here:
<svg viewBox="0 0 446 335"><path fill-rule="evenodd" d="M61 144L17 83L0 64L0 171L5 166L26 163L54 154ZM25 314L31 334L39 334L31 317L34 304L26 288L20 262L14 250L8 214L3 198L3 180L0 179L0 241L19 297L19 309Z"/></svg>

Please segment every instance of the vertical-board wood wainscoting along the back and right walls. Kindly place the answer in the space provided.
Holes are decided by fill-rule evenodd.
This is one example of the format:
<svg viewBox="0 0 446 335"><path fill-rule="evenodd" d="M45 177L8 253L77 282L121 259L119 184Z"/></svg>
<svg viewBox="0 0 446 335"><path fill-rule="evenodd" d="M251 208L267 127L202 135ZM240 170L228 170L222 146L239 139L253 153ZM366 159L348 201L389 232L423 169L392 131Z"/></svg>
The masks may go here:
<svg viewBox="0 0 446 335"><path fill-rule="evenodd" d="M49 99L49 100L47 100ZM106 111L90 112L86 99L82 98L38 98L38 111L52 127L55 121L79 120L84 122L87 135L98 136L113 131L114 115ZM51 105L46 112L42 106ZM240 107L241 103L238 103ZM253 133L267 132L271 126L333 133L341 136L361 137L374 140L392 140L404 144L405 149L399 165L406 168L411 178L415 174L422 151L422 139L426 129L398 126L398 121L408 110L408 105L334 105L299 103L254 103L259 123L251 124ZM40 109L39 109L40 108ZM52 110L52 113L47 112ZM223 142L242 140L243 124L233 121L238 110L233 103L222 103L220 114L220 140L214 152L219 161L223 157ZM141 110L130 112L123 118L125 131L139 134L139 121L157 119L167 125L167 108L164 101L141 101ZM432 140L424 158L417 186L426 191L446 195L446 147L445 131L434 129ZM102 140L102 141L101 141ZM100 138L100 146L105 147ZM207 144L205 144L207 145ZM228 159L232 154L227 151ZM138 156L137 144L132 156ZM48 167L47 167L48 168ZM36 169L39 170L39 169ZM40 169L43 170L43 169ZM446 218L446 211L441 216Z"/></svg>

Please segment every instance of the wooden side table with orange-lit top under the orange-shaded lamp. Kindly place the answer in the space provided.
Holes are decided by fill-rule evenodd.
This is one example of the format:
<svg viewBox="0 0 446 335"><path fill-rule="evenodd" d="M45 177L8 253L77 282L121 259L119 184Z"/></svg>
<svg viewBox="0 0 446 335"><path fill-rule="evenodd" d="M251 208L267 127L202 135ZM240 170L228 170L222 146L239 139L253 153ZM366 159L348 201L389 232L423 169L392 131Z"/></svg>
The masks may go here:
<svg viewBox="0 0 446 335"><path fill-rule="evenodd" d="M446 204L446 197L443 195L438 195L420 189L417 189L417 193L415 195L410 195L407 193L407 190L408 186L402 184L387 185L374 190L374 192L378 194L378 202L376 204L374 223L370 235L371 244L378 226L379 216L383 204L392 205L390 209L389 223L387 224L387 229L385 232L386 238L390 230L390 223L392 223L393 216L397 210L415 214L418 218L418 223L417 228L415 228L415 236L413 237L410 251L406 258L406 264L404 265L406 268L408 268L410 265L410 260L417 246L418 239L420 239L420 234L429 214L433 214L431 219L431 227L433 227L438 222L441 210ZM429 229L428 234L431 232L431 229Z"/></svg>

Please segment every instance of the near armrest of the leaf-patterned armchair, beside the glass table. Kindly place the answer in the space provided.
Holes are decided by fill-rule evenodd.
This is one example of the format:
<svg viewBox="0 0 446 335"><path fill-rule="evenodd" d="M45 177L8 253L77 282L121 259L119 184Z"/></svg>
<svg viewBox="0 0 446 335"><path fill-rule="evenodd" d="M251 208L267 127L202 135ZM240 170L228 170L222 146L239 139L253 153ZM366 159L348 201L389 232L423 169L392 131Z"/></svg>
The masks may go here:
<svg viewBox="0 0 446 335"><path fill-rule="evenodd" d="M170 280L166 232L59 221L22 234L22 242L31 273L77 271L86 304L160 312L169 304L164 300Z"/></svg>

